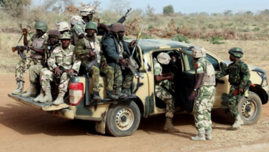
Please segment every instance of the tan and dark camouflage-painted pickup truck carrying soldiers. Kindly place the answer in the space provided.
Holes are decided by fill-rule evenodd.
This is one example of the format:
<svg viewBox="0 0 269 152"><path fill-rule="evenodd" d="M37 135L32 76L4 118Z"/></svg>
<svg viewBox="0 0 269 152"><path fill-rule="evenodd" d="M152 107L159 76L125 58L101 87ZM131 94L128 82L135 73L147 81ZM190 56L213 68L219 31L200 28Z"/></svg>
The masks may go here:
<svg viewBox="0 0 269 152"><path fill-rule="evenodd" d="M127 40L130 42L131 40ZM191 44L164 39L141 39L134 55L139 64L138 71L141 77L136 77L132 82L131 93L137 98L112 101L106 99L106 79L102 76L99 81L100 95L104 99L99 102L90 102L90 91L92 89L91 78L86 75L72 76L70 78L69 91L65 96L65 103L61 106L50 106L52 102L32 102L33 97L21 97L8 94L23 104L47 111L52 115L69 120L94 121L95 129L99 133L109 133L113 136L132 135L140 123L141 117L152 117L162 115L164 117L166 105L155 97L155 81L153 61L158 53L166 52L176 57L176 61L164 67L175 74L174 93L176 113L192 113L194 102L188 100L196 83L195 59L192 57ZM226 68L229 61L223 61L216 55L207 51L208 59L218 72ZM250 80L255 86L250 86L248 98L239 99L239 111L244 124L255 124L261 116L262 105L268 102L268 82L266 72L261 68L248 66L250 69ZM216 97L213 110L226 110L226 99L228 97L230 84L228 76L217 79ZM55 88L55 89L54 89ZM52 94L57 96L57 87L52 89Z"/></svg>

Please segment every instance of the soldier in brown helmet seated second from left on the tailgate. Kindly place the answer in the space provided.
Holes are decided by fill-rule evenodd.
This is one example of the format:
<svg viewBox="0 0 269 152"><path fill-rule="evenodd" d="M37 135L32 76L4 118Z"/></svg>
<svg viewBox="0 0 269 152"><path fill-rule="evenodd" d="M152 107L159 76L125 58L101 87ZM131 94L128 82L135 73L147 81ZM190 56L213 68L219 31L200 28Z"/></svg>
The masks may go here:
<svg viewBox="0 0 269 152"><path fill-rule="evenodd" d="M30 66L29 75L30 75L30 88L26 93L23 93L22 97L34 97L37 94L37 89L35 86L39 83L39 75L41 71L48 70L48 58L54 48L60 46L59 38L61 37L61 33L58 30L50 30L48 33L48 41L46 41L43 45L43 49L45 50L45 59L43 59L42 64ZM40 97L43 97L43 90L41 89L41 93L37 98L34 99L34 102L37 102Z"/></svg>

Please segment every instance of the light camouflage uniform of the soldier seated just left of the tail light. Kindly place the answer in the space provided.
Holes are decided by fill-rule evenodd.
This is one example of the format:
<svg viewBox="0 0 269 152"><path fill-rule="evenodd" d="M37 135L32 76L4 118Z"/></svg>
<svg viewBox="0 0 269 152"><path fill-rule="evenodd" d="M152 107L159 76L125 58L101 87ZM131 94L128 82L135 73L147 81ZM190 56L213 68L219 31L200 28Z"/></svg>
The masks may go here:
<svg viewBox="0 0 269 152"><path fill-rule="evenodd" d="M48 68L50 70L43 71L41 74L41 85L43 91L50 90L50 82L55 82L56 76L54 74L54 68L63 66L63 68L70 70L71 68L75 71L79 71L80 62L73 63L74 46L70 45L68 48L63 50L61 46L55 48L48 59ZM62 73L59 83L59 91L64 93L67 92L69 83L69 75Z"/></svg>

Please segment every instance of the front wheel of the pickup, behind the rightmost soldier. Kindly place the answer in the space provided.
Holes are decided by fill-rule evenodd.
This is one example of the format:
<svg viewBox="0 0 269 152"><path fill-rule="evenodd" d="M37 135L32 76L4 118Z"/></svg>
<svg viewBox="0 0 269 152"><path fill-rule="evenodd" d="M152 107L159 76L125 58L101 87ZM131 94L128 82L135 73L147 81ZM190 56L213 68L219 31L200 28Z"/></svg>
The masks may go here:
<svg viewBox="0 0 269 152"><path fill-rule="evenodd" d="M240 98L238 109L244 124L255 124L261 117L262 112L259 95L249 91L248 99L246 97Z"/></svg>

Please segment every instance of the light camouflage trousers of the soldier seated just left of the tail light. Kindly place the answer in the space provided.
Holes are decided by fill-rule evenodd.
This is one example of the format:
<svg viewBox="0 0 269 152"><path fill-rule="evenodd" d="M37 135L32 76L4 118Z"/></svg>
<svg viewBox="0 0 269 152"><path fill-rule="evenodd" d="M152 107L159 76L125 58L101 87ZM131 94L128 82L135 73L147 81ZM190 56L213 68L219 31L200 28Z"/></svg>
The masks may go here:
<svg viewBox="0 0 269 152"><path fill-rule="evenodd" d="M63 73L60 77L60 83L59 83L59 92L66 93L68 90L68 83L69 83L69 75L66 73ZM43 91L50 90L50 82L56 81L56 75L54 74L54 71L45 70L41 73L41 86Z"/></svg>

